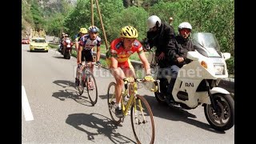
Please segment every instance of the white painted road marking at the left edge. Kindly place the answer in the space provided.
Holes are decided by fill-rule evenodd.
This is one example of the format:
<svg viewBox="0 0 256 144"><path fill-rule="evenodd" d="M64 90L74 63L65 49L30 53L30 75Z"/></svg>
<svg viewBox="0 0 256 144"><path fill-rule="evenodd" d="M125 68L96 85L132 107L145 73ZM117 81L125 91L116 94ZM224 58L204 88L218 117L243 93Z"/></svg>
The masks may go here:
<svg viewBox="0 0 256 144"><path fill-rule="evenodd" d="M25 115L26 121L33 121L34 117L30 109L29 100L26 97L25 87L22 86L22 110Z"/></svg>

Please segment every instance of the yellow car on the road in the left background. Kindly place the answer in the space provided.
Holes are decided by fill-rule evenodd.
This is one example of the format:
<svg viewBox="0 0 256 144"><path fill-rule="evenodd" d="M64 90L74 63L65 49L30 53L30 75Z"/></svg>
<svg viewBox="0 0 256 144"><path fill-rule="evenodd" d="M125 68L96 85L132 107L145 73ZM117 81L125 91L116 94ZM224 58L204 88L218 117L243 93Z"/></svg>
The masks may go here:
<svg viewBox="0 0 256 144"><path fill-rule="evenodd" d="M30 42L30 51L45 51L48 52L49 46L46 38L32 38Z"/></svg>

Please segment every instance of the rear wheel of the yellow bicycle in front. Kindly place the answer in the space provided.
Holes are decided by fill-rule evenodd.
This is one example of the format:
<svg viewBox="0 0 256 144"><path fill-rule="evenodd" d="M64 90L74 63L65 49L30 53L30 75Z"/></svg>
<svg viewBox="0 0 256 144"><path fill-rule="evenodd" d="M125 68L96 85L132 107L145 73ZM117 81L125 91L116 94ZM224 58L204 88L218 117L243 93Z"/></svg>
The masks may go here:
<svg viewBox="0 0 256 144"><path fill-rule="evenodd" d="M118 118L115 116L115 94L114 94L114 90L115 90L115 82L110 82L110 85L107 89L107 106L109 107L109 111L110 111L110 116L112 118L112 121L114 122L114 124L118 125L121 122L121 118Z"/></svg>

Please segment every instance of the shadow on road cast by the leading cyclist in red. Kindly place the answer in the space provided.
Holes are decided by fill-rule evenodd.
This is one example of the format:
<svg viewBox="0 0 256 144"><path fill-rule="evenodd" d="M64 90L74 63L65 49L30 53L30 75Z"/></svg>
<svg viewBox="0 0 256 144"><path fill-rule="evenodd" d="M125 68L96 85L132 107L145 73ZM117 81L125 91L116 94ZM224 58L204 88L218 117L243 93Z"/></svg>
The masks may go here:
<svg viewBox="0 0 256 144"><path fill-rule="evenodd" d="M94 142L94 136L99 134L103 134L104 136L110 138L110 141L117 143L136 143L130 138L123 136L122 134L116 133L116 129L118 126L114 125L114 123L110 120L110 118L106 118L106 116L102 114L70 114L68 118L66 118L66 123L70 126L74 126L74 128L81 130L87 134L88 140ZM89 128L83 128L83 127ZM97 130L97 132L91 132L90 129Z"/></svg>

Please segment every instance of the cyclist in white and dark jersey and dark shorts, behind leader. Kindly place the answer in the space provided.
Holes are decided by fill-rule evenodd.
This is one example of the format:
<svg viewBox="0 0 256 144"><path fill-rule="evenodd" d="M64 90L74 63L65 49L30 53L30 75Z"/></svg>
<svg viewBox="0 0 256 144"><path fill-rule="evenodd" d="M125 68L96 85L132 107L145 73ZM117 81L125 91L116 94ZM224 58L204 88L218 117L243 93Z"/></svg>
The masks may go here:
<svg viewBox="0 0 256 144"><path fill-rule="evenodd" d="M90 26L88 28L89 34L83 35L79 40L79 48L78 48L78 69L77 69L77 76L75 78L75 83L79 86L79 74L78 71L82 68L82 62L94 62L93 58L93 51L92 49L94 46L97 46L97 54L96 54L96 62L100 65L99 58L100 58L100 46L102 39L98 36L98 27L97 26ZM93 74L94 65L90 66L90 72ZM93 87L90 87L93 89Z"/></svg>

